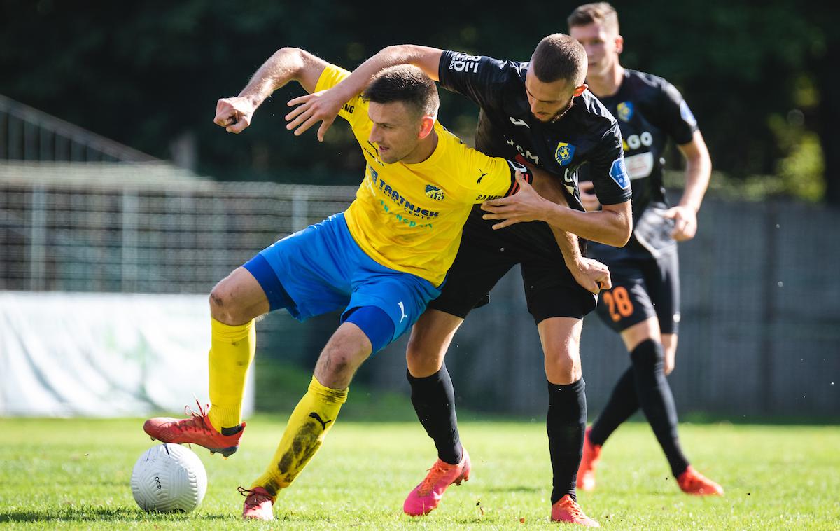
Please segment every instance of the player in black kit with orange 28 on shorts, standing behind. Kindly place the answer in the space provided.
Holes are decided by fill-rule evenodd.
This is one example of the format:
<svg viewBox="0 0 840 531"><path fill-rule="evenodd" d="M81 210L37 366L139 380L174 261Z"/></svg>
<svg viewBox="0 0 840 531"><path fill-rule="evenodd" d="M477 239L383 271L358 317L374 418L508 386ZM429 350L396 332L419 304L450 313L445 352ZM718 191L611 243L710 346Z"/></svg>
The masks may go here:
<svg viewBox="0 0 840 531"><path fill-rule="evenodd" d="M586 431L577 482L595 488L595 467L607 437L641 406L680 488L689 494L722 494L695 471L680 449L674 397L665 376L674 369L680 322L677 240L691 239L709 183L711 160L697 123L680 92L661 77L622 68L623 40L608 3L588 3L569 17L570 34L586 49L590 90L618 119L625 161L633 181L633 237L622 249L592 244L590 255L610 268L612 289L601 292L598 314L622 335L632 364L592 427ZM668 138L685 155L685 192L669 208L662 184ZM581 181L585 179L581 175ZM587 210L598 208L592 183L580 186Z"/></svg>

